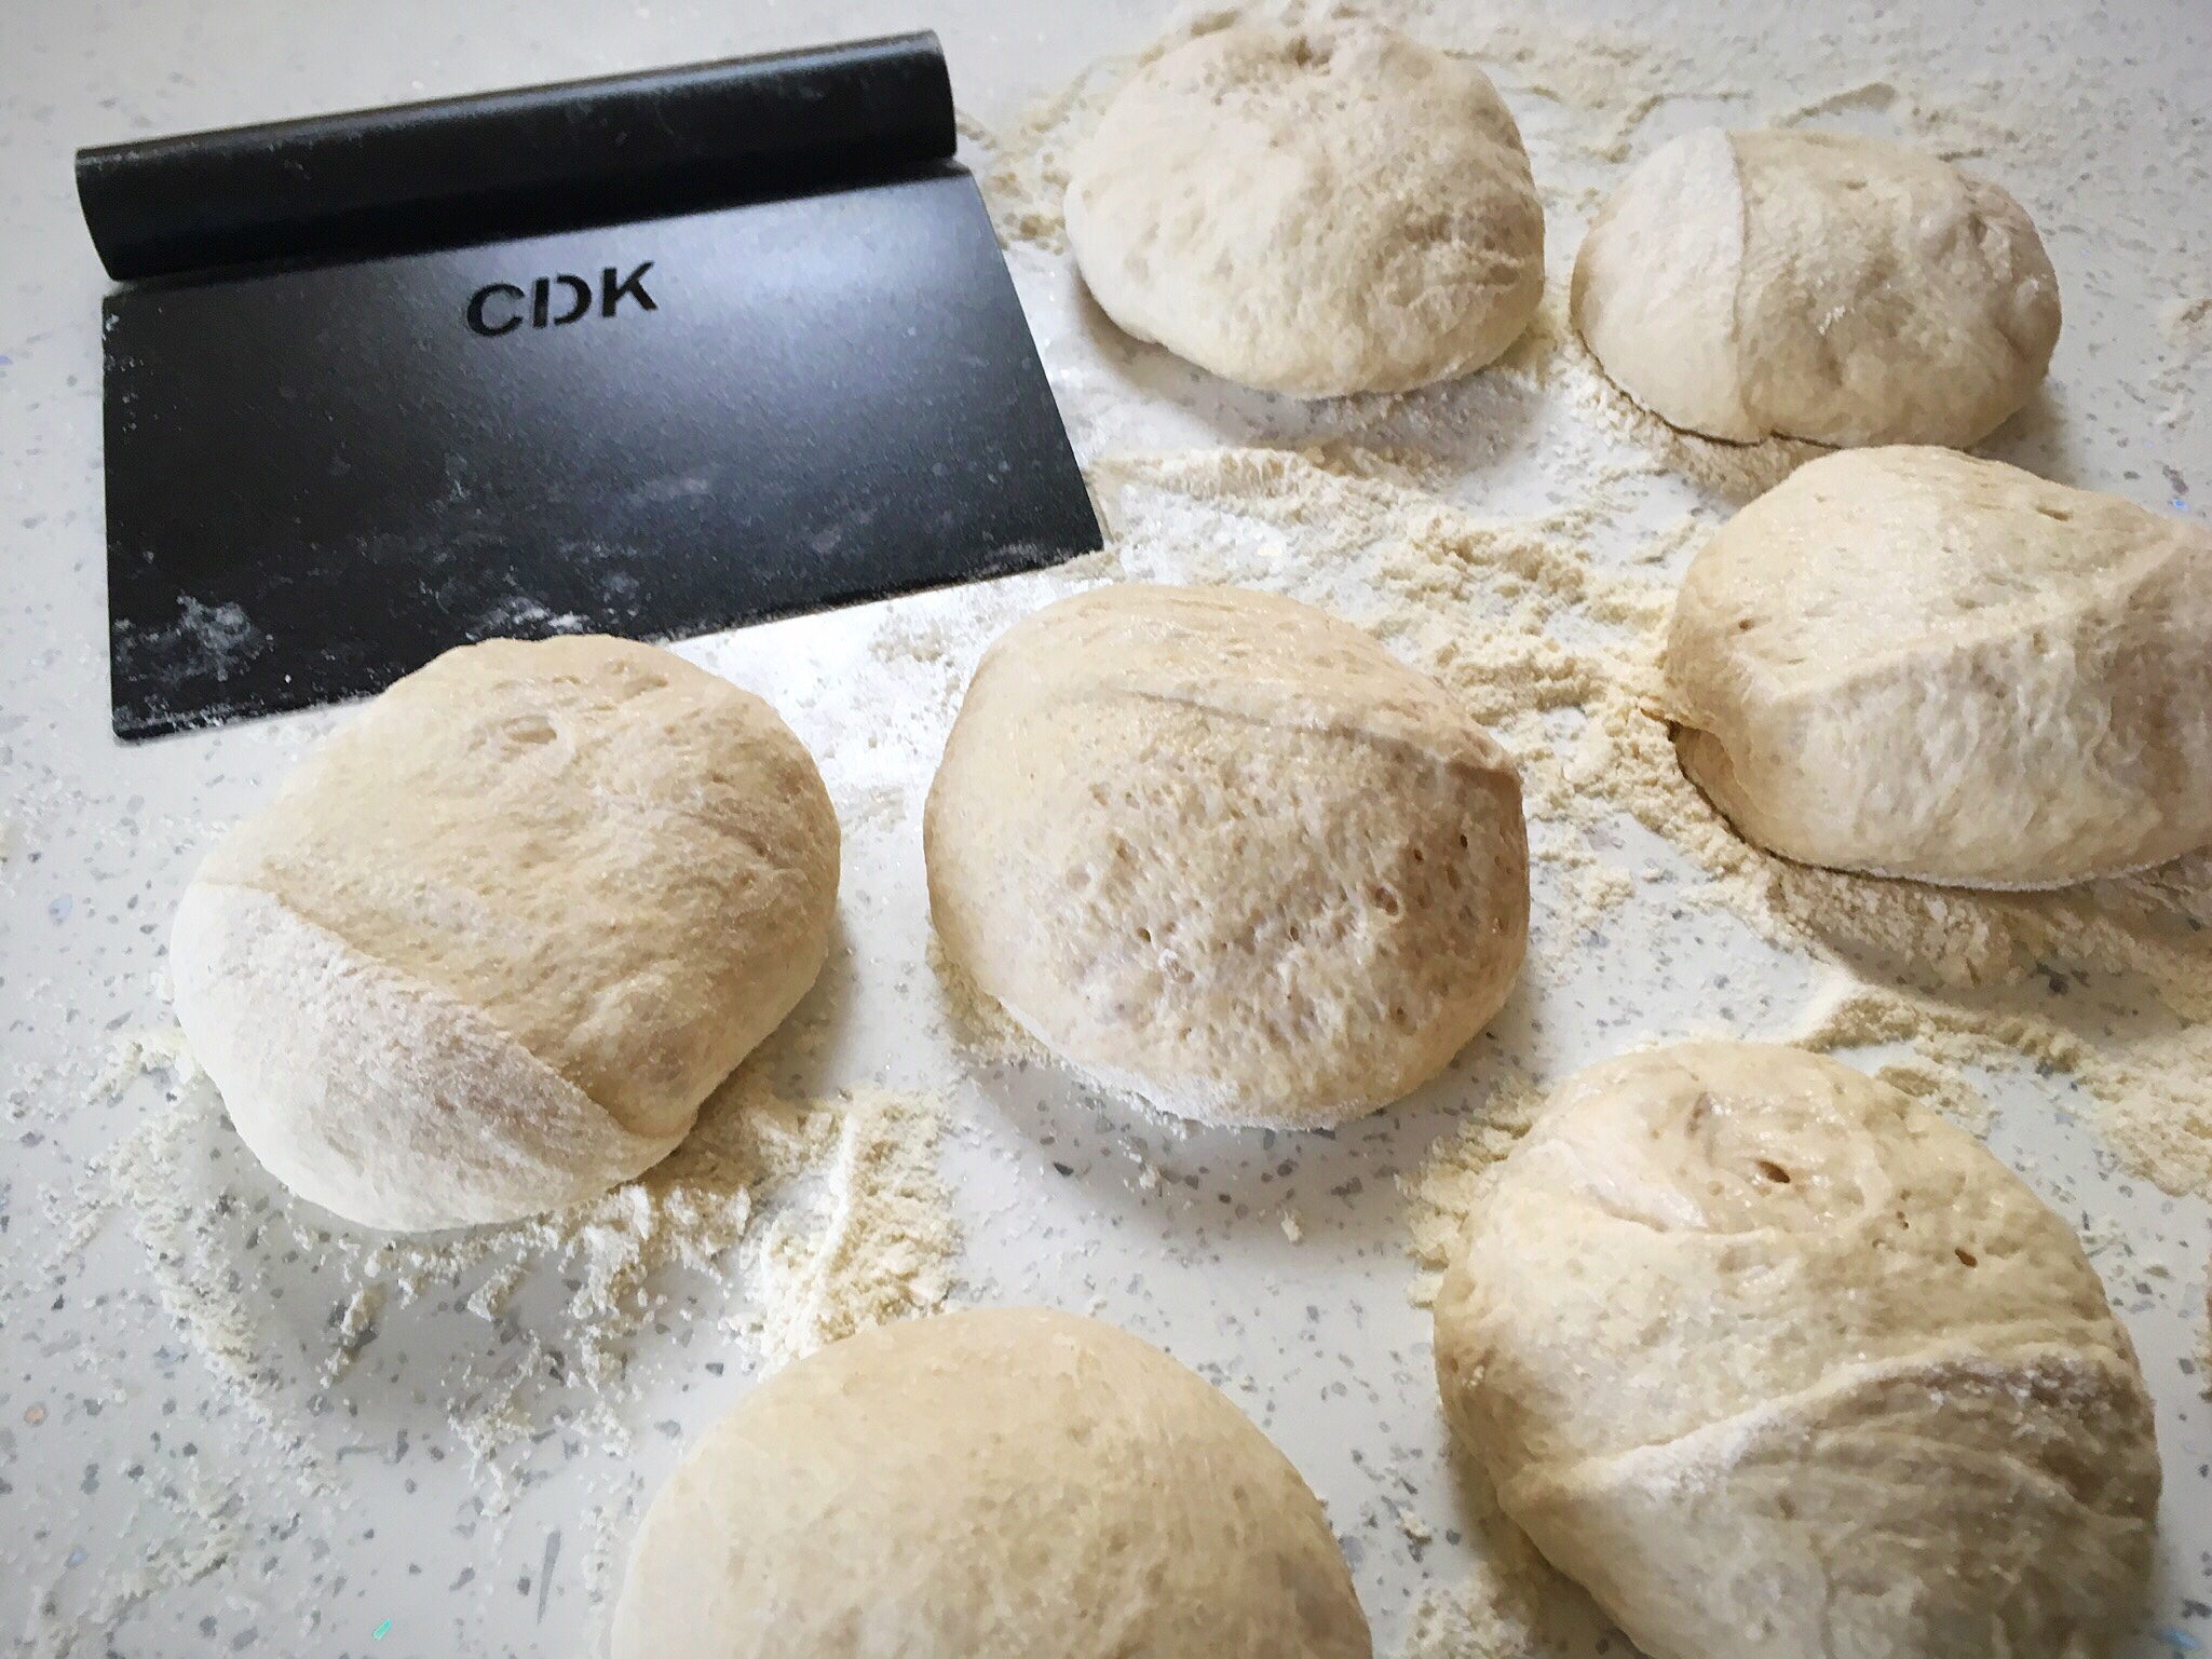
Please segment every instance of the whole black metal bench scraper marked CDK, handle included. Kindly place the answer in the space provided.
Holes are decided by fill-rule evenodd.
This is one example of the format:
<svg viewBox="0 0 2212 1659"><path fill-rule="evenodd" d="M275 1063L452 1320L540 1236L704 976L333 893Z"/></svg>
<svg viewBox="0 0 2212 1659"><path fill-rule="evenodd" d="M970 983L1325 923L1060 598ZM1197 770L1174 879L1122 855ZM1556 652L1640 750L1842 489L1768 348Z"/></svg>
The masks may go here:
<svg viewBox="0 0 2212 1659"><path fill-rule="evenodd" d="M1099 546L951 150L911 35L80 153L115 732Z"/></svg>

